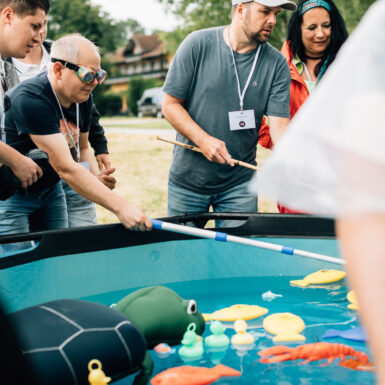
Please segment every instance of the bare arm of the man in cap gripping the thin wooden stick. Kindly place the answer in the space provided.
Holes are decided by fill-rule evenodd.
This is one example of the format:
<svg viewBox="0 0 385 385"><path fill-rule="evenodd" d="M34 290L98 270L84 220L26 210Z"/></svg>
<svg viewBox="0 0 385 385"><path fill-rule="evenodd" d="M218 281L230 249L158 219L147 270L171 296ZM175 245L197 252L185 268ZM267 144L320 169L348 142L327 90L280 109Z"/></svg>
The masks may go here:
<svg viewBox="0 0 385 385"><path fill-rule="evenodd" d="M169 123L180 134L195 143L209 161L234 166L234 161L227 151L226 143L209 135L196 124L184 108L182 99L165 93L162 112Z"/></svg>

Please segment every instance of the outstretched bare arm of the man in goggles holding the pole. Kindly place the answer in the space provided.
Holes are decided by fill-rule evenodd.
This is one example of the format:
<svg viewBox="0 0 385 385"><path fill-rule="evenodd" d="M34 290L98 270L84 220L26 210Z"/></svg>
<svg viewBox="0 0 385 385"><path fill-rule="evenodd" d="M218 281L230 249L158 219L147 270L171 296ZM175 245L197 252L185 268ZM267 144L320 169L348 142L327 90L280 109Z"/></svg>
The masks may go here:
<svg viewBox="0 0 385 385"><path fill-rule="evenodd" d="M30 137L41 150L48 154L49 161L60 178L64 179L78 194L114 213L129 229L144 231L152 227L151 221L142 210L125 202L72 159L62 134L30 135Z"/></svg>

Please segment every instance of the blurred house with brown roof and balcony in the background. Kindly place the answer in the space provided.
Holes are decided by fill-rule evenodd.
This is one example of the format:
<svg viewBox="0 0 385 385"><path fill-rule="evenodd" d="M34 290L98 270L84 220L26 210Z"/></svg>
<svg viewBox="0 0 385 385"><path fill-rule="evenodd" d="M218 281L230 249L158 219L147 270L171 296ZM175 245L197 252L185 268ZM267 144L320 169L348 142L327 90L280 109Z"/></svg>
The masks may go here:
<svg viewBox="0 0 385 385"><path fill-rule="evenodd" d="M127 44L109 56L112 76L105 84L122 96L123 111L127 111L129 82L135 77L165 80L171 58L163 51L157 34L133 35Z"/></svg>

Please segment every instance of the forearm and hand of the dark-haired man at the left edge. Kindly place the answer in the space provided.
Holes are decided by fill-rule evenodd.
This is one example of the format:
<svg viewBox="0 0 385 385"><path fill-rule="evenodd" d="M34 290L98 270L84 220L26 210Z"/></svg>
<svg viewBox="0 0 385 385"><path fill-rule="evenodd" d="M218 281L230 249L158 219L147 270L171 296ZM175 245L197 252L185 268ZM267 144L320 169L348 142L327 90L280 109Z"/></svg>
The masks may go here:
<svg viewBox="0 0 385 385"><path fill-rule="evenodd" d="M23 188L30 186L43 175L41 168L32 159L21 155L1 141L0 162L6 164L12 170L17 179L20 180Z"/></svg>

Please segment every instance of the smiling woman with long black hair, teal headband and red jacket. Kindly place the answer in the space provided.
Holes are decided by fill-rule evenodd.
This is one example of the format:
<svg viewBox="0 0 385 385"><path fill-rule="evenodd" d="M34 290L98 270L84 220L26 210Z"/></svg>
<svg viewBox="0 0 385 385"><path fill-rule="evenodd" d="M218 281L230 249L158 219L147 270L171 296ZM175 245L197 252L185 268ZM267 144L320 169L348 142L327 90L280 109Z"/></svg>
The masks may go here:
<svg viewBox="0 0 385 385"><path fill-rule="evenodd" d="M345 22L333 0L300 0L297 7L281 50L291 73L291 118L314 91L348 37ZM265 120L258 143L265 148L272 147ZM297 212L280 205L278 209L281 213Z"/></svg>

